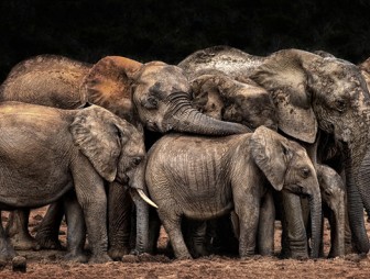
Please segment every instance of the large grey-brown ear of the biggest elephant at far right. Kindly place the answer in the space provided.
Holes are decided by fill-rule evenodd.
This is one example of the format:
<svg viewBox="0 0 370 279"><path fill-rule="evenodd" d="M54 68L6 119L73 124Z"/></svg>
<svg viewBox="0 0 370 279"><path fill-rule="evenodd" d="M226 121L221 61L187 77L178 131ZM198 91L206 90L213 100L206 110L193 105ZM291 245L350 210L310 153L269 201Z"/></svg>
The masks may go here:
<svg viewBox="0 0 370 279"><path fill-rule="evenodd" d="M284 49L265 58L250 78L272 93L279 129L306 143L314 143L317 120L307 88L311 60L317 55L298 49Z"/></svg>

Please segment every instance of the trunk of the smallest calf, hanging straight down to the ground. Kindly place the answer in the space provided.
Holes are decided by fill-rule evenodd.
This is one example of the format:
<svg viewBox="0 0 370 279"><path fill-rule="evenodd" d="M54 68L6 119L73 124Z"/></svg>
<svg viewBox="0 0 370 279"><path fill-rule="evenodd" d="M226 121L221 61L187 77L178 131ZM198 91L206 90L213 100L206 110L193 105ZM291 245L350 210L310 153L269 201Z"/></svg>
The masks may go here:
<svg viewBox="0 0 370 279"><path fill-rule="evenodd" d="M331 247L329 258L345 256L346 215L344 201L340 201L331 210L334 217L330 220Z"/></svg>

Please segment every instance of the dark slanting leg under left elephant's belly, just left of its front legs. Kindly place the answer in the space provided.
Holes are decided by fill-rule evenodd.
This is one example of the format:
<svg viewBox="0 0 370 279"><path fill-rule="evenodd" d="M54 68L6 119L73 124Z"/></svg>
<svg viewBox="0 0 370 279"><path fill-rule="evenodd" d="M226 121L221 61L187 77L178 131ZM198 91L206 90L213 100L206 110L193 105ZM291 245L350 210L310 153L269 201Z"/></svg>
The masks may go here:
<svg viewBox="0 0 370 279"><path fill-rule="evenodd" d="M63 249L58 238L63 216L63 201L56 201L48 205L46 214L43 217L35 236L40 248Z"/></svg>

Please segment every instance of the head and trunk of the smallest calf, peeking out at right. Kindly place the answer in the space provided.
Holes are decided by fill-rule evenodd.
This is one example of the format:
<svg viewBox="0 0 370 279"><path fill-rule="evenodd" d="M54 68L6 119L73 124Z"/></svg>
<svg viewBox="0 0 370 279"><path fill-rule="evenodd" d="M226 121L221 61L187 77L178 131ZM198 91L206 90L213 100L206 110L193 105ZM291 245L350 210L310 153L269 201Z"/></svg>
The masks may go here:
<svg viewBox="0 0 370 279"><path fill-rule="evenodd" d="M324 208L329 209L330 252L329 257L345 256L346 187L340 176L325 165L317 165L316 172L322 190Z"/></svg>

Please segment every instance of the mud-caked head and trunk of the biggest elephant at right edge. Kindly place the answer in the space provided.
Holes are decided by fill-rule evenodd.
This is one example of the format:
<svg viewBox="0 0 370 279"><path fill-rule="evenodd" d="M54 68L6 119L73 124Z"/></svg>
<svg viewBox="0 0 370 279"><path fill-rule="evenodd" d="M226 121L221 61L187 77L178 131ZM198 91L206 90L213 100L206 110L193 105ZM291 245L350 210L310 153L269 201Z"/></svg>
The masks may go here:
<svg viewBox="0 0 370 279"><path fill-rule="evenodd" d="M284 133L314 143L319 127L344 144L350 226L358 250L367 253L356 180L367 152L370 96L358 67L333 56L283 49L266 57L249 77L271 92Z"/></svg>

